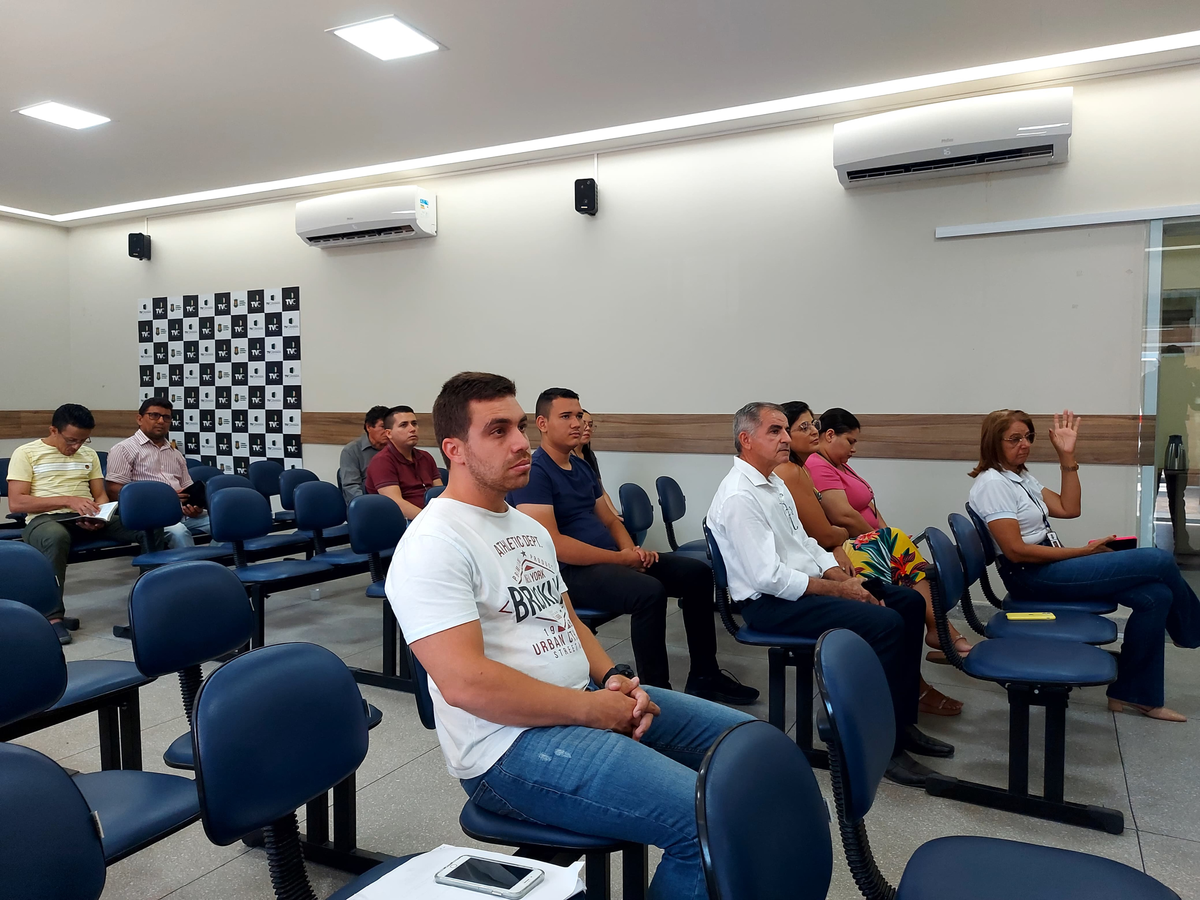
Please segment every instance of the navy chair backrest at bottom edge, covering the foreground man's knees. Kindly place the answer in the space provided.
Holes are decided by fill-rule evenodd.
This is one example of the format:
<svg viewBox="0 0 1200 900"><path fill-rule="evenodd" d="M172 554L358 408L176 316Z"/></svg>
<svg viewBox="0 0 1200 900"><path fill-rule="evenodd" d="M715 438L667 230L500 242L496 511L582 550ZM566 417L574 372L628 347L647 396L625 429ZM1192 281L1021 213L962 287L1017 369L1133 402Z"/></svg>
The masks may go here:
<svg viewBox="0 0 1200 900"><path fill-rule="evenodd" d="M804 751L754 720L716 739L696 778L696 826L713 900L823 900L833 842Z"/></svg>

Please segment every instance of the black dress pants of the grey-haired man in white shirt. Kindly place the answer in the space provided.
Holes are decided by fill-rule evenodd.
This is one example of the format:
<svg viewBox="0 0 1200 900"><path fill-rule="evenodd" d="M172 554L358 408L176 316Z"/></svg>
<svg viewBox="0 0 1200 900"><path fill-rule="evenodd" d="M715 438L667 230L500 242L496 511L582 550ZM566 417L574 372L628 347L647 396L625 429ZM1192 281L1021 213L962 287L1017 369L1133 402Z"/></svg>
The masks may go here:
<svg viewBox="0 0 1200 900"><path fill-rule="evenodd" d="M917 722L925 598L878 578L868 578L863 587L884 605L820 595L782 600L764 594L742 606L742 618L758 631L817 638L830 629L845 628L866 641L880 658L892 691L899 750L905 726Z"/></svg>

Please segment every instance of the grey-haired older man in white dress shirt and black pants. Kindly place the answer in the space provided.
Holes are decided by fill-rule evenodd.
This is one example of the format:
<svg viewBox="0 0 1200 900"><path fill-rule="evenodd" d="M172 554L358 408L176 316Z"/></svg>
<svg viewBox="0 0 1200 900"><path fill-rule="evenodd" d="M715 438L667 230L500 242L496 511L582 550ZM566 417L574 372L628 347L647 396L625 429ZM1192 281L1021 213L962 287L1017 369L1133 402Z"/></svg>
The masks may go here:
<svg viewBox="0 0 1200 900"><path fill-rule="evenodd" d="M917 728L925 601L910 588L844 572L804 533L792 494L775 467L787 461L787 416L774 403L737 412L738 457L708 508L708 527L725 558L730 594L746 624L760 631L820 637L845 628L875 649L896 718L896 743L887 775L924 786L932 773L908 752L950 756L954 748Z"/></svg>

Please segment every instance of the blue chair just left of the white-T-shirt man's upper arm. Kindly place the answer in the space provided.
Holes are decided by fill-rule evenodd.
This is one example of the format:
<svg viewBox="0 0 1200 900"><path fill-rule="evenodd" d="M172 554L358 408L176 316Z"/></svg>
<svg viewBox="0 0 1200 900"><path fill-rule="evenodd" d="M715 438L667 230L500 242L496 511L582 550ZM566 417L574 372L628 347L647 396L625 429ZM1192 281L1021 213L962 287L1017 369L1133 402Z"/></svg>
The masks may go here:
<svg viewBox="0 0 1200 900"><path fill-rule="evenodd" d="M408 668L408 644L396 624L388 594L384 590L384 577L388 574L388 559L404 536L408 522L392 500L379 494L367 493L350 500L347 509L350 528L350 550L362 553L368 560L371 584L367 596L379 600L383 611L383 665L380 671L354 668L354 680L359 684L373 684L377 688L391 690L413 690L413 676Z"/></svg>

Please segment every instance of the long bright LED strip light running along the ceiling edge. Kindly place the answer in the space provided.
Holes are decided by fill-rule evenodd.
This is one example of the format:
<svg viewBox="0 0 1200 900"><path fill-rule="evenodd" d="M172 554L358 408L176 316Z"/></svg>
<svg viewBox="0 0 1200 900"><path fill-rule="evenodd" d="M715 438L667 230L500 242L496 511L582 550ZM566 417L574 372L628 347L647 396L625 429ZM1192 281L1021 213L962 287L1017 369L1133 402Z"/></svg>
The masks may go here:
<svg viewBox="0 0 1200 900"><path fill-rule="evenodd" d="M739 119L754 119L762 115L790 113L799 109L812 109L815 107L830 106L833 103L844 103L854 100L886 97L929 88L942 88L952 84L968 84L971 82L979 82L988 78L1025 74L1051 68L1062 68L1064 66L1078 66L1088 62L1103 62L1105 60L1141 56L1151 53L1164 53L1166 50L1178 50L1188 47L1200 47L1200 31L1188 31L1178 35L1166 35L1164 37L1151 37L1144 41L1129 41L1128 43L1116 43L1106 47L1092 47L1085 50L1054 53L1046 56L1033 56L1032 59L1014 60L1012 62L994 62L986 66L956 68L949 72L935 72L934 74L913 76L911 78L896 78L890 82L877 82L875 84L864 84L856 88L839 88L836 90L820 91L817 94L803 94L797 97L785 97L782 100L769 100L761 103L746 103L738 107L713 109L706 113L689 113L686 115L676 115L667 119L653 119L643 122L632 122L630 125L614 125L607 128L578 131L571 134L559 134L550 138L518 140L511 144L497 144L496 146L484 146L474 150L458 150L450 154L422 156L415 160L385 162L377 166L361 166L354 169L323 172L316 175L301 175L299 178L287 178L277 181L260 181L258 184L239 185L236 187L221 187L214 191L196 191L193 193L175 194L174 197L158 197L151 200L116 203L110 206L96 206L95 209L85 209L77 212L64 212L58 216L49 216L42 212L29 212L28 210L13 209L11 206L0 206L0 212L32 216L34 218L42 218L50 222L73 222L80 218L94 218L96 216L138 212L148 209L176 206L185 203L221 200L232 197L247 197L250 194L266 193L269 191L311 187L312 185L371 178L373 175L390 175L401 172L432 168L436 166L454 166L463 162L496 160L517 154L554 150L581 144L594 144L602 140L640 137L643 134L658 134L668 131L679 131L682 128L694 128L697 126L737 121Z"/></svg>

